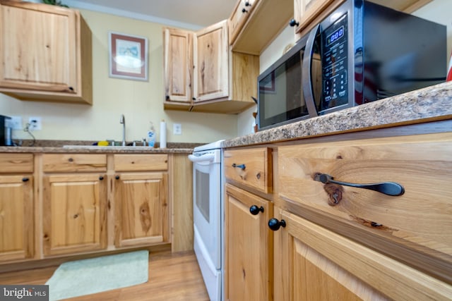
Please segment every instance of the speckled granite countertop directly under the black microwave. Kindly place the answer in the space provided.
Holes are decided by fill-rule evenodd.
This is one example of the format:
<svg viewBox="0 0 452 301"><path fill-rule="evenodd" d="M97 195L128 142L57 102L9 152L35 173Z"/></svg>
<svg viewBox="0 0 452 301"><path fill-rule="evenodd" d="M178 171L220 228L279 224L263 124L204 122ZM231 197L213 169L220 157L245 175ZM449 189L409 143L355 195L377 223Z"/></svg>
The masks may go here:
<svg viewBox="0 0 452 301"><path fill-rule="evenodd" d="M222 147L258 145L447 119L452 119L452 82L225 140Z"/></svg>

